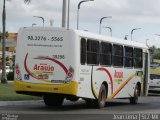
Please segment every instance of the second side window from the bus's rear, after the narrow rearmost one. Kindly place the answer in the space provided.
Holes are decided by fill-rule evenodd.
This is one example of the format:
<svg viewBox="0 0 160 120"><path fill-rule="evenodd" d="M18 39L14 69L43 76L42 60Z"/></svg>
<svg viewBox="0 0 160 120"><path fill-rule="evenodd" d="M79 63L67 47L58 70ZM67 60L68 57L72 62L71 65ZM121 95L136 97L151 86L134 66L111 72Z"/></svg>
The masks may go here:
<svg viewBox="0 0 160 120"><path fill-rule="evenodd" d="M87 64L99 64L99 41L87 40Z"/></svg>

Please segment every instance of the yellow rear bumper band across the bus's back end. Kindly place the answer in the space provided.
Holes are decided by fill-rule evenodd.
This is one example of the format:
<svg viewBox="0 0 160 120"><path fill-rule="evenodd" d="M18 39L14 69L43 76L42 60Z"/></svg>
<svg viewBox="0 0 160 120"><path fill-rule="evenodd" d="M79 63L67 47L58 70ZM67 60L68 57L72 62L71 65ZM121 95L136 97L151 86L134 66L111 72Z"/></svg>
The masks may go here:
<svg viewBox="0 0 160 120"><path fill-rule="evenodd" d="M29 93L57 93L77 95L78 83L70 82L67 84L35 84L14 80L14 89L16 92Z"/></svg>

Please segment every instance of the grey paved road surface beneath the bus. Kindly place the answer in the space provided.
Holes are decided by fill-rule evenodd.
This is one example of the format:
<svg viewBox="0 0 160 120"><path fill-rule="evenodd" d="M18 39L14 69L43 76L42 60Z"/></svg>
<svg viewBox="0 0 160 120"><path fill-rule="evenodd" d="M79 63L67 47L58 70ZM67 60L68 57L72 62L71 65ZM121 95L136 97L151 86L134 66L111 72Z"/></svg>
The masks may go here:
<svg viewBox="0 0 160 120"><path fill-rule="evenodd" d="M46 107L43 101L0 102L0 119L14 120L160 120L160 96L141 97L137 105L112 100L103 109L89 109L85 102L65 101L62 107Z"/></svg>

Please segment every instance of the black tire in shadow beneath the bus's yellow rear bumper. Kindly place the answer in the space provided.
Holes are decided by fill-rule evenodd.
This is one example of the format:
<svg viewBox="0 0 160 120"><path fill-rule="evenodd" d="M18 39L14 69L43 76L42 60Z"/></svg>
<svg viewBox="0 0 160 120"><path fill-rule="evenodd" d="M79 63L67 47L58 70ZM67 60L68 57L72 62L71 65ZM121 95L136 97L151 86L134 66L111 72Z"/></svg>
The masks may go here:
<svg viewBox="0 0 160 120"><path fill-rule="evenodd" d="M64 97L56 94L47 94L43 96L43 100L46 106L61 106Z"/></svg>

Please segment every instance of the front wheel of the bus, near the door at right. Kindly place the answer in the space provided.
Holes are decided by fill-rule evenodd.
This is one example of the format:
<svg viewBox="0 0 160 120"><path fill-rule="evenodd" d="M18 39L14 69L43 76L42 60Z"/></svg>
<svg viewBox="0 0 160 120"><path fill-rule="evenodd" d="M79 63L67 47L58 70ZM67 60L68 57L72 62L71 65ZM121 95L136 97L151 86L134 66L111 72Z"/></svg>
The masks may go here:
<svg viewBox="0 0 160 120"><path fill-rule="evenodd" d="M140 88L138 87L138 84L137 84L136 87L135 87L135 90L134 90L134 96L130 98L130 103L131 104L137 104L138 103L139 93L140 93Z"/></svg>

